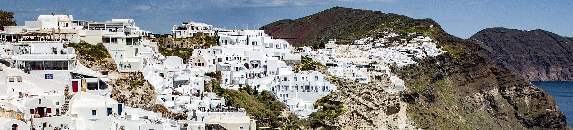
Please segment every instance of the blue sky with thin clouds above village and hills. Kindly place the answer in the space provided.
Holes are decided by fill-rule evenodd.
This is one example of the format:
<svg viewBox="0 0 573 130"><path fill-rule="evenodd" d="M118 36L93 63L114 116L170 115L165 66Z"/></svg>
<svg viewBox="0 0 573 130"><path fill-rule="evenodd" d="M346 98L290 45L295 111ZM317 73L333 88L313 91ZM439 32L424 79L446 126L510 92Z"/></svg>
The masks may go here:
<svg viewBox="0 0 573 130"><path fill-rule="evenodd" d="M444 30L469 38L488 27L543 29L573 36L573 1L407 1L407 0L211 0L211 1L60 1L4 0L0 10L14 11L19 26L41 14L73 15L75 20L104 22L112 18L135 19L136 26L155 34L170 32L182 22L205 22L226 29L249 29L281 19L297 19L331 7L350 7L395 13L411 18L431 18ZM253 27L254 26L254 27Z"/></svg>

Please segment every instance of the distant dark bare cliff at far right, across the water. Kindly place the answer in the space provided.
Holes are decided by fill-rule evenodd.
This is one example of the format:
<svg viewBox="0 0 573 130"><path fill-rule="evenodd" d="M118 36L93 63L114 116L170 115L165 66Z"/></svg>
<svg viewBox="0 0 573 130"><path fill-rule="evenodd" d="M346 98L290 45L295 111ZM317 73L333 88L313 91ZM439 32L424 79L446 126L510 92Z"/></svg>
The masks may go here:
<svg viewBox="0 0 573 130"><path fill-rule="evenodd" d="M531 81L573 81L573 40L544 30L489 28L470 37L496 64Z"/></svg>

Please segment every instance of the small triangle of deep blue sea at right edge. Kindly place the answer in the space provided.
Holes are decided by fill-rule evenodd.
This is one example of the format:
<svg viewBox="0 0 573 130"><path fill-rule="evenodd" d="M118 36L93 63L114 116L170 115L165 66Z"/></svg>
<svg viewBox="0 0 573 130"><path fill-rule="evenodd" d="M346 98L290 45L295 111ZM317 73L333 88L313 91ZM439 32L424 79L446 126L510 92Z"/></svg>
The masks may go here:
<svg viewBox="0 0 573 130"><path fill-rule="evenodd" d="M557 107L567 117L567 124L573 126L573 82L531 82L551 95Z"/></svg>

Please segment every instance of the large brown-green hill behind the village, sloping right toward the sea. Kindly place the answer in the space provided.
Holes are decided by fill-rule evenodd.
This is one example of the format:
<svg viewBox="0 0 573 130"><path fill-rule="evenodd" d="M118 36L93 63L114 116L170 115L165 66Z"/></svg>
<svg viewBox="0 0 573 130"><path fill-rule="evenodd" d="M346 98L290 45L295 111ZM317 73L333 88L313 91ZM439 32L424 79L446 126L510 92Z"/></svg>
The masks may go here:
<svg viewBox="0 0 573 130"><path fill-rule="evenodd" d="M480 51L480 46L448 34L431 19L333 7L264 27L276 38L303 44L328 38L346 43L371 30L390 28L401 34L429 36L448 53L421 59L413 66L392 67L409 88L400 95L376 91L371 84L358 86L335 79L341 92L321 103L343 106L346 111L317 129L571 129L550 95L520 75L500 68ZM393 96L399 96L399 104ZM399 116L403 112L407 115ZM391 120L405 120L399 123L407 125L397 127L380 119L392 115Z"/></svg>

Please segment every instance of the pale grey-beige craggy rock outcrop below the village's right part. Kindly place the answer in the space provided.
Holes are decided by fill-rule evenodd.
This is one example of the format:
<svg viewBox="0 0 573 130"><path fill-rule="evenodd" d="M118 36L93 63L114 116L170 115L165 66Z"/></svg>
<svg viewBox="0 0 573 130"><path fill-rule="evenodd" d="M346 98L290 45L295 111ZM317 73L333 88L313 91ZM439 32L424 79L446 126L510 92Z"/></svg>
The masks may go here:
<svg viewBox="0 0 573 130"><path fill-rule="evenodd" d="M332 95L325 103L343 105L346 112L332 121L325 121L325 129L417 129L406 115L406 103L399 95L384 92L390 80L380 84L360 84L349 79L333 78L340 94Z"/></svg>

